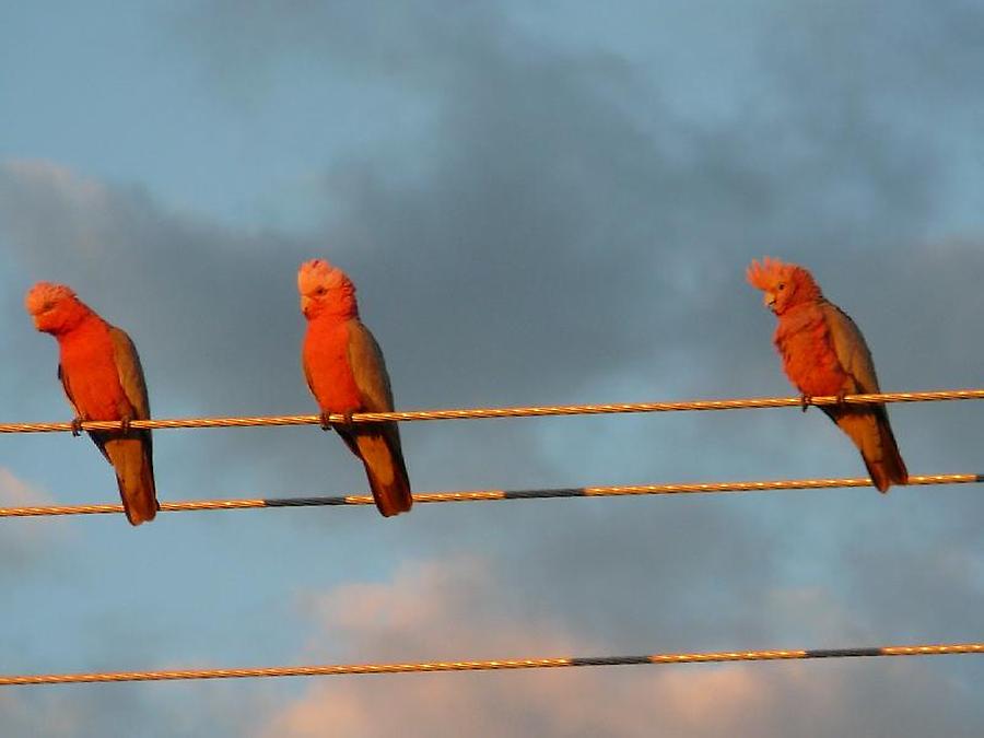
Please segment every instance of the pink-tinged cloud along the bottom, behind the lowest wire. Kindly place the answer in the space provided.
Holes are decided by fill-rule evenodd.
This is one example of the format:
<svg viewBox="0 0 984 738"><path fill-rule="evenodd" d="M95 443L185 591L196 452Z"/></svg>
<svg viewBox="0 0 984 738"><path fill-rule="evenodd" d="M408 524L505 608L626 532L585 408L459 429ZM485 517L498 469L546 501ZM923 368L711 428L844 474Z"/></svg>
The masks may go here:
<svg viewBox="0 0 984 738"><path fill-rule="evenodd" d="M549 618L513 617L504 582L488 562L465 559L407 566L391 582L313 596L319 637L305 653L359 659L513 658L600 655ZM783 599L809 619L837 618L816 593ZM385 656L384 656L385 655ZM341 677L313 680L269 716L258 736L303 738L331 730L372 737L414 735L648 736L972 735L944 710L952 683L924 663L555 669L540 672ZM898 690L897 693L893 693ZM904 693L909 696L901 699ZM882 711L892 711L882 717ZM979 711L980 712L980 711Z"/></svg>

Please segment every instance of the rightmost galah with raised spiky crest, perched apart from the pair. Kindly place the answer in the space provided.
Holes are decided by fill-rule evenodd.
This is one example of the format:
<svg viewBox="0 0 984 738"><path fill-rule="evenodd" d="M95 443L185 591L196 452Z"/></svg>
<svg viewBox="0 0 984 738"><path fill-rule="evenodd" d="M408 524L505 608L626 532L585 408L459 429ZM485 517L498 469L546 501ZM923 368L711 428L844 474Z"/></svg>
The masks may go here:
<svg viewBox="0 0 984 738"><path fill-rule="evenodd" d="M804 411L813 396L841 398L820 409L860 450L875 487L887 492L893 483L907 483L885 405L843 402L845 395L880 391L871 353L854 320L823 296L800 266L766 257L761 263L753 260L746 276L765 293L765 306L778 318L773 342L786 376L803 394Z"/></svg>

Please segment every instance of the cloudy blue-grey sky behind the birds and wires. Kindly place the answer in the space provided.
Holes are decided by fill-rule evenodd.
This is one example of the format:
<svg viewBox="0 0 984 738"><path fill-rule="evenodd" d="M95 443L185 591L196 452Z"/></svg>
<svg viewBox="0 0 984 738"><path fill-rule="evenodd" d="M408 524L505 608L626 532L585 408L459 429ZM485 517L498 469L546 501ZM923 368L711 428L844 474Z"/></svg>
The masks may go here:
<svg viewBox="0 0 984 738"><path fill-rule="evenodd" d="M397 407L789 395L743 277L812 270L886 390L980 385L980 0L7 3L0 408L67 421L23 295L134 340L162 418L315 411L345 269ZM892 406L982 472L975 403ZM410 423L417 491L856 477L813 410ZM0 504L117 500L10 435ZM154 435L162 500L365 492L316 426ZM4 673L981 641L974 485L8 519ZM4 735L979 736L970 656L5 688Z"/></svg>

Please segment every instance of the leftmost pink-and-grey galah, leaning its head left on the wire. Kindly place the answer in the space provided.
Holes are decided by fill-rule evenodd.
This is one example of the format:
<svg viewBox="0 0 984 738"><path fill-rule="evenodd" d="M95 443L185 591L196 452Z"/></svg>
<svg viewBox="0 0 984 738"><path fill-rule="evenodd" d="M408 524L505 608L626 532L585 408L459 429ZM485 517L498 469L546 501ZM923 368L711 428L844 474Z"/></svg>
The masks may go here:
<svg viewBox="0 0 984 738"><path fill-rule="evenodd" d="M75 411L72 434L86 420L119 420L118 431L89 435L116 470L119 495L131 525L157 513L153 449L147 429L131 420L150 418L147 383L137 348L125 331L101 318L63 284L38 282L24 300L39 331L58 341L58 378Z"/></svg>

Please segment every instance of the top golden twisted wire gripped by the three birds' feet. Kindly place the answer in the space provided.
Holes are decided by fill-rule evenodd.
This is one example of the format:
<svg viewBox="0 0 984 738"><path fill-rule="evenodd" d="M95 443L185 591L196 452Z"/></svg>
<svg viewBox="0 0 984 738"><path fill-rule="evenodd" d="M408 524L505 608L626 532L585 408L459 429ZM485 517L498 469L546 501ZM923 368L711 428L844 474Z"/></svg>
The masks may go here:
<svg viewBox="0 0 984 738"><path fill-rule="evenodd" d="M837 397L813 397L809 405L870 405L872 402L940 402L944 400L981 400L984 389L944 389L923 393L882 393L876 395L847 395ZM490 418L542 418L548 415L599 415L626 412L680 412L696 410L748 410L763 408L800 407L800 397L753 397L723 400L682 400L673 402L624 402L614 405L547 405L514 408L462 408L448 410L405 410L395 412L356 412L349 419L331 414L332 423L347 420L359 423L380 423L386 421L420 420L473 420ZM174 427L253 427L259 425L313 425L321 422L320 415L255 415L246 418L183 418L159 420L133 420L130 427L174 429ZM85 421L85 431L115 431L120 421ZM0 423L0 433L56 433L71 431L71 423Z"/></svg>

